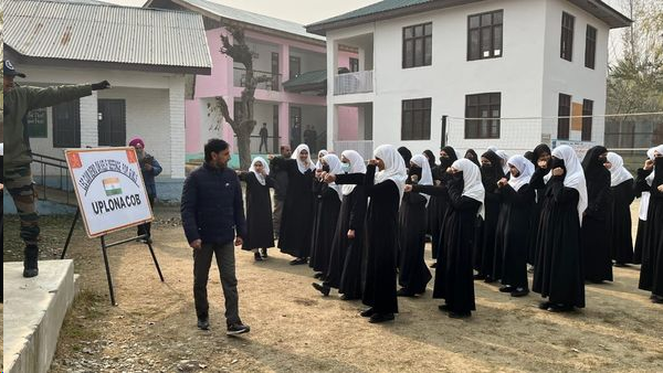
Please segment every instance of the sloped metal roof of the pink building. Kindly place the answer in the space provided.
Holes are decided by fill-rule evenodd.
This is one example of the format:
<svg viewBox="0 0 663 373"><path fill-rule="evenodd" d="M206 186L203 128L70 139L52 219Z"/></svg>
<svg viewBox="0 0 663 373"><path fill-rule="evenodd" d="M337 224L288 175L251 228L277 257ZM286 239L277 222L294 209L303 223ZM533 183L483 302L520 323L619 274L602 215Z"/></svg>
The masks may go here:
<svg viewBox="0 0 663 373"><path fill-rule="evenodd" d="M152 1L148 1L145 7L150 7ZM239 22L244 22L249 24L254 24L257 26L272 29L281 32L286 32L290 34L294 34L297 36L304 36L317 41L325 41L324 36L319 36L309 32L306 32L306 26L304 24L299 24L296 22L291 22L286 20L281 20L277 18L257 14L250 11L231 8L228 6L223 6L217 2L207 1L207 0L176 0L176 3L179 4L189 4L191 7L208 11L212 14L215 14L220 18L225 18L229 20L234 20Z"/></svg>

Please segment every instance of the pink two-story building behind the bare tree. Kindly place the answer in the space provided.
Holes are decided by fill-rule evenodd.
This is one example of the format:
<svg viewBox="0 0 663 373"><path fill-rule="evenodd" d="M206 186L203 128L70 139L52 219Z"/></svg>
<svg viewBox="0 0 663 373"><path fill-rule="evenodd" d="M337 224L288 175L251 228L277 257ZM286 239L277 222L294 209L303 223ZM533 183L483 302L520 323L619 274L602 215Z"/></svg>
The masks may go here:
<svg viewBox="0 0 663 373"><path fill-rule="evenodd" d="M297 146L299 142L307 142L314 152L325 148L328 76L325 38L306 32L298 23L206 0L150 0L145 7L193 11L204 19L213 66L211 75L196 77L194 94L187 99L189 158L201 158L202 146L211 137L236 143L230 125L214 109L215 97L223 97L231 116L234 115L244 85L244 66L220 52L221 35L229 34L229 25L244 30L246 44L253 53L254 75L267 77L267 82L259 84L255 90L257 125L252 134L252 153L278 152L278 145ZM358 67L356 51L351 47L341 46L335 57L335 74L339 68ZM337 116L341 132L356 131L356 108L344 108ZM259 131L263 124L270 136L266 151L260 149Z"/></svg>

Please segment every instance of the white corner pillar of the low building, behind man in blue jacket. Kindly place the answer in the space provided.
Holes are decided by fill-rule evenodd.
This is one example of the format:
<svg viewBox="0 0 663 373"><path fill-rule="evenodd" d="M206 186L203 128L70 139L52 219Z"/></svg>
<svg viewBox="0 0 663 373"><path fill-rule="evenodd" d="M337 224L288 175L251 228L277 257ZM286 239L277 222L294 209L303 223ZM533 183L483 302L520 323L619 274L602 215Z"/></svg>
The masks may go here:
<svg viewBox="0 0 663 373"><path fill-rule="evenodd" d="M170 178L185 178L185 77L170 77L168 102L170 108Z"/></svg>

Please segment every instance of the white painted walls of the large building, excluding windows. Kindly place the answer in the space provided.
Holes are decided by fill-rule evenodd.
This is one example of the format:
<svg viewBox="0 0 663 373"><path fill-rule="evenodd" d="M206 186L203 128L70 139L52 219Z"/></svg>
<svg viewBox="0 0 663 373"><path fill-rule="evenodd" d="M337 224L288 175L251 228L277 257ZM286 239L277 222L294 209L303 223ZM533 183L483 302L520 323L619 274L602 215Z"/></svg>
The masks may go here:
<svg viewBox="0 0 663 373"><path fill-rule="evenodd" d="M561 9L576 15L573 64L559 57ZM467 61L467 17L504 10L503 56ZM585 66L587 21L598 29L597 70ZM402 68L402 28L433 23L432 65ZM375 89L371 94L334 96L333 74L337 44L343 39L373 33ZM413 152L439 149L441 117L448 115L448 143L460 150L496 146L512 153L533 149L541 141L541 120L505 119L499 139L464 139L465 95L502 93L502 117L545 117L557 115L559 92L594 100L594 115L604 113L608 28L565 0L494 0L414 14L375 24L334 30L327 33L328 97L333 105L373 102L375 145L407 146ZM564 63L562 63L564 62ZM567 65L565 65L565 63ZM560 90L565 89L565 90ZM554 98L552 98L554 96ZM401 102L432 98L431 139L401 141ZM576 98L578 97L578 98ZM327 130L337 138L337 110L328 110ZM556 120L544 120L544 125ZM593 136L602 141L603 128L594 119ZM548 130L549 131L549 130ZM329 139L328 141L330 141Z"/></svg>

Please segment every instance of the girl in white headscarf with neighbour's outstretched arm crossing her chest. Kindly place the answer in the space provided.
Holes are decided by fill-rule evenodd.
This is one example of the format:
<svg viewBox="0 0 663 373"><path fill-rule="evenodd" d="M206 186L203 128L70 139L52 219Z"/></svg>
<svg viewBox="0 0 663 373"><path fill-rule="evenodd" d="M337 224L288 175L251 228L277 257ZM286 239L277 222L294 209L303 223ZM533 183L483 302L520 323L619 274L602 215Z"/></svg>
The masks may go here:
<svg viewBox="0 0 663 373"><path fill-rule="evenodd" d="M410 161L412 184L432 185L433 177L423 154ZM399 297L414 297L425 292L432 276L423 259L425 246L425 207L430 196L420 193L406 193L399 210L399 271L398 283L402 287Z"/></svg>

